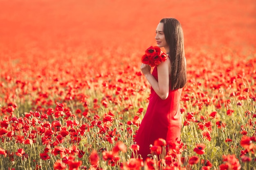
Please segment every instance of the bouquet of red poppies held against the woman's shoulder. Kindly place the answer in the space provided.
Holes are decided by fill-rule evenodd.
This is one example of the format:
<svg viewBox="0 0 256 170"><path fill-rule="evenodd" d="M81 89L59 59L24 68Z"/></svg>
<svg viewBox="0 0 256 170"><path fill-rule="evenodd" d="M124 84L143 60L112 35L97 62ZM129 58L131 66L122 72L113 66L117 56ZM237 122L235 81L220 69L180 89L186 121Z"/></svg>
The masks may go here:
<svg viewBox="0 0 256 170"><path fill-rule="evenodd" d="M159 65L161 62L166 61L168 55L160 50L158 46L150 46L146 49L145 54L141 57L141 62L148 64L151 67Z"/></svg>

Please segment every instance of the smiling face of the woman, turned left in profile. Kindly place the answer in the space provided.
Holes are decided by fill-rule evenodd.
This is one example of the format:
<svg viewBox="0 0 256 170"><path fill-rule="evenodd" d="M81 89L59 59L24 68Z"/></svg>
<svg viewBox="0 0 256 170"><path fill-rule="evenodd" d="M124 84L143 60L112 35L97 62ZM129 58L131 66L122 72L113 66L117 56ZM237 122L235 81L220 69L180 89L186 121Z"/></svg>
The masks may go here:
<svg viewBox="0 0 256 170"><path fill-rule="evenodd" d="M166 50L166 52L169 51L169 46L165 40L165 36L164 36L164 23L160 22L157 25L157 29L155 30L155 33L157 34L155 36L155 40L157 40L157 46L159 48L164 47L164 49Z"/></svg>

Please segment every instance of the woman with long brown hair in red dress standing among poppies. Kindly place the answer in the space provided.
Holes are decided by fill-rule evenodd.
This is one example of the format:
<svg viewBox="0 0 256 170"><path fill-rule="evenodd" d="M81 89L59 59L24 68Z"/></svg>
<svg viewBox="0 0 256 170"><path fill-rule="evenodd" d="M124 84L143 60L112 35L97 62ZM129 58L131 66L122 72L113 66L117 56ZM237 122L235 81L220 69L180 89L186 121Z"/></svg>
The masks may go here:
<svg viewBox="0 0 256 170"><path fill-rule="evenodd" d="M183 31L180 22L174 18L164 18L157 25L157 46L164 47L168 58L151 67L141 64L141 71L151 85L151 95L146 114L135 137L139 145L138 154L145 160L150 154L150 144L158 138L168 144L180 141L181 114L180 96L186 84L186 61Z"/></svg>

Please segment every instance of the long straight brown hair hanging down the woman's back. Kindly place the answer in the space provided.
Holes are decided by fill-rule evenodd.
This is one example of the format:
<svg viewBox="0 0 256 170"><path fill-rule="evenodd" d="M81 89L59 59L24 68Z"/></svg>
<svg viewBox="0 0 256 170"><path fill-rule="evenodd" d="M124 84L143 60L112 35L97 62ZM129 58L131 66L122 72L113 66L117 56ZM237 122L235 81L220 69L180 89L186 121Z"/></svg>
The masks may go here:
<svg viewBox="0 0 256 170"><path fill-rule="evenodd" d="M170 50L171 90L183 88L187 77L182 26L175 18L164 18L160 22L164 23L164 36Z"/></svg>

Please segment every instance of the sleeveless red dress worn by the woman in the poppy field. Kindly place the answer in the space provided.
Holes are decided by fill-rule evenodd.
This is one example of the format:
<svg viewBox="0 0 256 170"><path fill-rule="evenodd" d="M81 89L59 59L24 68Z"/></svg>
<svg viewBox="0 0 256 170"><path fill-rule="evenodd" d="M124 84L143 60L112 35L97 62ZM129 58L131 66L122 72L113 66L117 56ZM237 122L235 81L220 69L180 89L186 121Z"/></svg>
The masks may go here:
<svg viewBox="0 0 256 170"><path fill-rule="evenodd" d="M158 80L157 66L152 75ZM144 160L150 154L149 145L154 145L156 139L165 139L167 145L180 140L182 123L179 103L182 88L171 91L170 85L169 89L167 99L163 100L151 87L148 108L135 137L135 142L139 145L138 154Z"/></svg>

